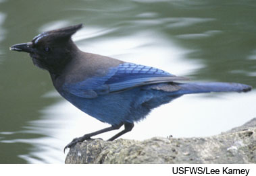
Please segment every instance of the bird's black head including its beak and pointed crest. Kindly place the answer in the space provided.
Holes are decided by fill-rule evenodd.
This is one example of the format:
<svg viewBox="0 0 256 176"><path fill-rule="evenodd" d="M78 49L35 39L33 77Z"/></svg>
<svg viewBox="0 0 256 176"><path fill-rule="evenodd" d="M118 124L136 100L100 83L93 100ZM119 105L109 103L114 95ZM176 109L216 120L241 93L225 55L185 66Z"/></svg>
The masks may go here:
<svg viewBox="0 0 256 176"><path fill-rule="evenodd" d="M71 36L82 28L82 24L43 32L32 42L15 44L10 50L28 52L33 63L50 73L57 73L74 57L78 48Z"/></svg>

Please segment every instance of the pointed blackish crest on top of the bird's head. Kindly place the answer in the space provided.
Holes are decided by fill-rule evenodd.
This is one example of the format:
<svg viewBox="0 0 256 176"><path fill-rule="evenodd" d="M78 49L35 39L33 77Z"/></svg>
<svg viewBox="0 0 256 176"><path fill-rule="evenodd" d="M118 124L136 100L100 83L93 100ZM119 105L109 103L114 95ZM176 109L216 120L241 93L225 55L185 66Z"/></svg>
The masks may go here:
<svg viewBox="0 0 256 176"><path fill-rule="evenodd" d="M32 40L34 44L37 44L39 40L43 38L50 38L51 40L55 40L57 38L71 38L73 34L75 34L78 30L82 28L82 24L77 24L74 26L68 26L66 28L59 28L57 30L51 30L48 32L43 32L38 36L35 36Z"/></svg>

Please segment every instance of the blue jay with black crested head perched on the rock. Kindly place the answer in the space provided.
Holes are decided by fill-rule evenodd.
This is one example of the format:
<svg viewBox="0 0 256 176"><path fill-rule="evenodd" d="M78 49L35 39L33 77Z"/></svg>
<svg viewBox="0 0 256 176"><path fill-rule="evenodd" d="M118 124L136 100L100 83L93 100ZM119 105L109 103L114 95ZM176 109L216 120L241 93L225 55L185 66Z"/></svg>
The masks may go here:
<svg viewBox="0 0 256 176"><path fill-rule="evenodd" d="M124 130L115 140L134 128L155 107L191 93L247 92L250 85L222 82L188 82L185 77L161 69L108 56L83 52L72 35L83 27L76 24L35 36L31 42L15 44L10 50L27 52L36 67L49 72L57 92L82 112L110 126L74 138L67 148L93 136Z"/></svg>

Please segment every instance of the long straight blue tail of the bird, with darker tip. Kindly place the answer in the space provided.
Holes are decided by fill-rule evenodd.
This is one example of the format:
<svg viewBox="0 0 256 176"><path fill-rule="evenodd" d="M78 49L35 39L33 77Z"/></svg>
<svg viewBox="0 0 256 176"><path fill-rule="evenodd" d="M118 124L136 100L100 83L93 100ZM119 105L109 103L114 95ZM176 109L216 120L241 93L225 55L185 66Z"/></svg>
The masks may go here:
<svg viewBox="0 0 256 176"><path fill-rule="evenodd" d="M252 87L250 85L244 85L240 83L180 83L181 89L178 93L188 94L188 93L207 93L207 92L247 92L251 91Z"/></svg>

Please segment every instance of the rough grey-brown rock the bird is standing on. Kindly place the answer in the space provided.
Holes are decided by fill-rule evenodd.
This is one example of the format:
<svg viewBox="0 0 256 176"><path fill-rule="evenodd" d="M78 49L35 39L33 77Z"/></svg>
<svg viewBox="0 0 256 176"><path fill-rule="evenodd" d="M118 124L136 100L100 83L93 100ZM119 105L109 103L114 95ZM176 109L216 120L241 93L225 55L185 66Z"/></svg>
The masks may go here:
<svg viewBox="0 0 256 176"><path fill-rule="evenodd" d="M210 137L84 141L65 163L256 163L256 118Z"/></svg>

